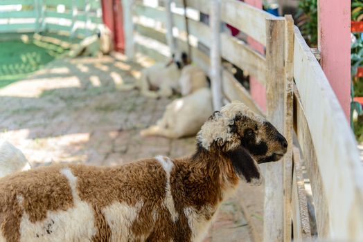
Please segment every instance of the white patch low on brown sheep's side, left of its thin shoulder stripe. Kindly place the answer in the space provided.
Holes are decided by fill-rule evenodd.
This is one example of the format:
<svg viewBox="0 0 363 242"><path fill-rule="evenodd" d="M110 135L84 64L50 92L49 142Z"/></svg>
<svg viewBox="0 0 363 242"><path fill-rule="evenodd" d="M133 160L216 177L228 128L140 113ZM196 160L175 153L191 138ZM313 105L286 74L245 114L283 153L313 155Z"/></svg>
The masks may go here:
<svg viewBox="0 0 363 242"><path fill-rule="evenodd" d="M143 201L139 201L135 206L116 202L103 208L103 214L105 214L107 224L112 231L110 241L127 242L135 238L131 227L142 207Z"/></svg>

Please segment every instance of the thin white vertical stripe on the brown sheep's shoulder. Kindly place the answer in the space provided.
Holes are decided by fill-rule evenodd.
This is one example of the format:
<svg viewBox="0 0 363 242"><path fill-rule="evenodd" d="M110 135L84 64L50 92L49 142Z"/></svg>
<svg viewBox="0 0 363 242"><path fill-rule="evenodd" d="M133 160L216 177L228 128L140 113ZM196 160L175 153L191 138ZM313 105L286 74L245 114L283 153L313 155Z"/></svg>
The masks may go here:
<svg viewBox="0 0 363 242"><path fill-rule="evenodd" d="M155 157L157 161L159 161L160 165L163 167L166 173L166 186L165 186L165 200L163 205L165 205L171 215L172 221L176 222L179 214L175 210L174 199L172 198L171 194L171 187L170 187L170 172L172 171L172 167L174 167L174 163L168 157L157 156Z"/></svg>

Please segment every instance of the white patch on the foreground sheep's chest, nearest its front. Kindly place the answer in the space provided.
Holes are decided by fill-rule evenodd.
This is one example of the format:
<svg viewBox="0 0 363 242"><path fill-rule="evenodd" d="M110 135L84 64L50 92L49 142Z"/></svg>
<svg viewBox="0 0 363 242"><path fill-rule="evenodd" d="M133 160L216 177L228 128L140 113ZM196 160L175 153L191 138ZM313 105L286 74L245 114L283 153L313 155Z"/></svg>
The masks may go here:
<svg viewBox="0 0 363 242"><path fill-rule="evenodd" d="M184 208L184 214L188 219L193 241L199 242L205 238L206 232L208 232L208 228L213 218L215 218L215 216L212 216L210 219L206 219L206 214L214 214L214 212L215 210L210 206L204 206L199 212L194 207Z"/></svg>

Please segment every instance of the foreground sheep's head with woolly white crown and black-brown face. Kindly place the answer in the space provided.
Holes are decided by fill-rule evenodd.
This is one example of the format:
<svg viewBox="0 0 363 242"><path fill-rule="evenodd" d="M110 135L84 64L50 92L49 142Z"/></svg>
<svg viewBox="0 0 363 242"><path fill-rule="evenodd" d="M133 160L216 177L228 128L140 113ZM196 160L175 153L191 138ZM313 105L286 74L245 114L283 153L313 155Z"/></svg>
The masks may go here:
<svg viewBox="0 0 363 242"><path fill-rule="evenodd" d="M241 102L215 111L197 135L208 151L219 151L231 160L236 173L247 183L262 182L258 164L280 160L287 141L265 118Z"/></svg>

